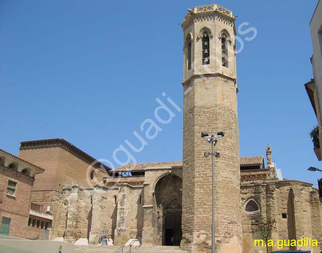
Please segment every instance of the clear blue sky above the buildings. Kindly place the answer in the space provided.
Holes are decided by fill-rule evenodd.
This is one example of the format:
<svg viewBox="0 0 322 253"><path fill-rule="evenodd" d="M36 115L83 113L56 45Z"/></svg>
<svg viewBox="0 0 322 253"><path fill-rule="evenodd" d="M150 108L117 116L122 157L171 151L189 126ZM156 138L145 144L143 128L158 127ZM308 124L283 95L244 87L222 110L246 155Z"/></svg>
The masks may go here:
<svg viewBox="0 0 322 253"><path fill-rule="evenodd" d="M208 2L1 0L0 148L18 154L21 141L64 138L113 160L125 139L138 146L133 131L154 118L156 98L182 108L178 24L187 8ZM249 22L258 32L250 42L240 35L237 55L241 155L265 155L269 143L285 178L316 183L321 175L306 169L321 167L309 136L317 119L304 83L313 77L317 0L215 3L238 16L237 27ZM137 162L182 159L182 111L175 114Z"/></svg>

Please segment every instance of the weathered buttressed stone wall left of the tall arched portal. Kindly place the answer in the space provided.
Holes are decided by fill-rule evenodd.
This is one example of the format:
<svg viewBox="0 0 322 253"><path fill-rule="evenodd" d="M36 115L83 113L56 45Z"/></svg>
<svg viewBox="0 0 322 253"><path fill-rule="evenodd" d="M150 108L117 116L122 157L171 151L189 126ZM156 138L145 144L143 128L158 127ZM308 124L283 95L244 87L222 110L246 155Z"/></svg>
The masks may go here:
<svg viewBox="0 0 322 253"><path fill-rule="evenodd" d="M56 213L51 239L64 237L65 242L74 243L87 238L89 244L97 245L104 228L115 245L138 239L142 237L143 200L142 186L66 188L51 202Z"/></svg>

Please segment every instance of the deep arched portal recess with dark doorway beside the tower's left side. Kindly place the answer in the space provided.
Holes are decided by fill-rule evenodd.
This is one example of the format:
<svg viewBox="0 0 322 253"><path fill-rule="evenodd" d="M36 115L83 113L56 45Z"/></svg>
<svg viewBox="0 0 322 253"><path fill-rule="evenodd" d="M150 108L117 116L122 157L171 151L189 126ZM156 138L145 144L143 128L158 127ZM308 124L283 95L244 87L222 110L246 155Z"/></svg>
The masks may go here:
<svg viewBox="0 0 322 253"><path fill-rule="evenodd" d="M182 179L167 173L155 186L159 245L180 246L182 238Z"/></svg>

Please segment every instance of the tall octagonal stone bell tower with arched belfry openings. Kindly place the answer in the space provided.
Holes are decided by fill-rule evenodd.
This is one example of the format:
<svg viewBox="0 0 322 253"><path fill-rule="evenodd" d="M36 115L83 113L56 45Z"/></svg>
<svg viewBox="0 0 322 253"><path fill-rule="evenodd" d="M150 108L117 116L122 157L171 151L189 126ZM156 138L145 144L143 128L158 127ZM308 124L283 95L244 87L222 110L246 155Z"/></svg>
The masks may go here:
<svg viewBox="0 0 322 253"><path fill-rule="evenodd" d="M216 134L216 253L241 253L240 168L237 117L235 18L216 4L188 9L184 33L183 75L183 250L211 252L211 144L201 132Z"/></svg>

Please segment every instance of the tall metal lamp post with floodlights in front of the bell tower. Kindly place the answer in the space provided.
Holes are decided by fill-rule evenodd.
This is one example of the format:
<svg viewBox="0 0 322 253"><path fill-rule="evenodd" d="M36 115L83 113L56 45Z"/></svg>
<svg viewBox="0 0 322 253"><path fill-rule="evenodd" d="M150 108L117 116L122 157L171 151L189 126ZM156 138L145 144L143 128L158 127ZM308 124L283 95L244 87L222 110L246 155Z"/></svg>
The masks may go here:
<svg viewBox="0 0 322 253"><path fill-rule="evenodd" d="M209 143L212 144L212 152L205 152L205 157L209 157L210 154L212 154L212 253L215 253L215 188L214 188L214 182L215 182L215 167L214 167L214 160L215 157L219 158L220 153L217 151L215 152L215 146L218 142L215 138L224 137L224 132L218 132L217 135L211 135L209 136L208 133L202 132L201 137L205 138Z"/></svg>

